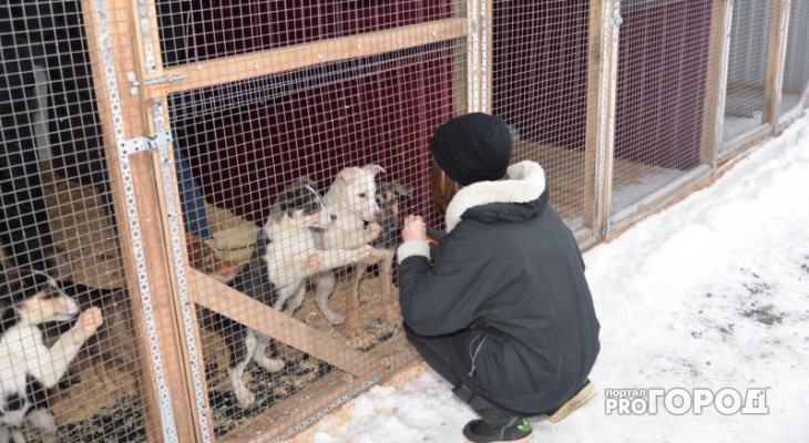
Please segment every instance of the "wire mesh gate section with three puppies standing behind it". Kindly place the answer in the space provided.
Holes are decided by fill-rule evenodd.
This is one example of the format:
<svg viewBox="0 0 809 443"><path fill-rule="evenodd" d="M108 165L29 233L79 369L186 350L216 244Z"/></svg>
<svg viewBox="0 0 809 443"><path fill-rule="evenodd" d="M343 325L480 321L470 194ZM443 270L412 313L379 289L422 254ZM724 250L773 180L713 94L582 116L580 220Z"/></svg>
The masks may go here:
<svg viewBox="0 0 809 443"><path fill-rule="evenodd" d="M278 436L411 356L392 255L403 214L443 225L465 2L153 7L212 431Z"/></svg>

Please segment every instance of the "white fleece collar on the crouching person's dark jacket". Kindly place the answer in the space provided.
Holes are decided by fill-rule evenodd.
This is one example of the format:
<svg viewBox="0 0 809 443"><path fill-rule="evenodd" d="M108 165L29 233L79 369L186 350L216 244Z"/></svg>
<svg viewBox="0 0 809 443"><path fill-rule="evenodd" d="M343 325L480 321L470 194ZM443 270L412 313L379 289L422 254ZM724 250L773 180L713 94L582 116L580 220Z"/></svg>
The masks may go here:
<svg viewBox="0 0 809 443"><path fill-rule="evenodd" d="M545 190L545 172L535 162L524 161L509 166L508 179L478 182L459 190L447 206L447 231L461 222L467 209L490 203L528 203Z"/></svg>

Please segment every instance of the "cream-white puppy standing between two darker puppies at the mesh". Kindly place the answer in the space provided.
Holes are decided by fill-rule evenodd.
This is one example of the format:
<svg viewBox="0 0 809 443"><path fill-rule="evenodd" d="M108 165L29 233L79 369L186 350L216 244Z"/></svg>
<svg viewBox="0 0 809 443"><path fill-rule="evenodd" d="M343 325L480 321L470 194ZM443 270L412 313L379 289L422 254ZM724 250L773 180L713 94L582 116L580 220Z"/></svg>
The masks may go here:
<svg viewBox="0 0 809 443"><path fill-rule="evenodd" d="M355 249L367 246L379 237L381 227L376 220L379 219L381 210L376 199L376 177L381 172L385 169L379 165L367 165L361 168L347 167L337 174L331 187L324 196L326 205L334 209L337 219L332 228L324 230L318 237L322 249ZM377 254L379 253L377 251ZM346 316L326 316L332 324L345 321L345 330L349 334L359 328L357 289L362 274L357 271L351 275L346 295ZM317 299L328 300L335 290L335 282L331 271L318 274Z"/></svg>

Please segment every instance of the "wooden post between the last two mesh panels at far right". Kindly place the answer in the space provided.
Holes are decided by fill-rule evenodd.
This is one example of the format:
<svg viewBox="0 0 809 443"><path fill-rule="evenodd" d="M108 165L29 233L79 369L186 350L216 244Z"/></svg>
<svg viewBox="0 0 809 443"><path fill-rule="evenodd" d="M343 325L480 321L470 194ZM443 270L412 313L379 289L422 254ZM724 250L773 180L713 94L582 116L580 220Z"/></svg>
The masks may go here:
<svg viewBox="0 0 809 443"><path fill-rule="evenodd" d="M762 123L774 132L778 127L784 83L784 61L787 53L787 27L789 24L789 0L770 0L769 40L767 47L767 75L765 76Z"/></svg>

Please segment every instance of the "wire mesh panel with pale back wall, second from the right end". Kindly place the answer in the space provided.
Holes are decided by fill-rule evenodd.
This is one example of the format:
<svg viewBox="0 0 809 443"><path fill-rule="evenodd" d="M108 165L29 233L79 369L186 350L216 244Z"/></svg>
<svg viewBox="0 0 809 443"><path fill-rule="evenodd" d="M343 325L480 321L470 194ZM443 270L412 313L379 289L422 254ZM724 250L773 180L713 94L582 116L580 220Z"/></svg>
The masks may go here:
<svg viewBox="0 0 809 443"><path fill-rule="evenodd" d="M734 0L720 156L761 128L772 2Z"/></svg>

